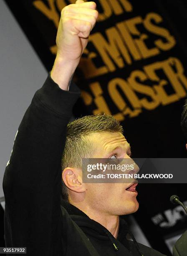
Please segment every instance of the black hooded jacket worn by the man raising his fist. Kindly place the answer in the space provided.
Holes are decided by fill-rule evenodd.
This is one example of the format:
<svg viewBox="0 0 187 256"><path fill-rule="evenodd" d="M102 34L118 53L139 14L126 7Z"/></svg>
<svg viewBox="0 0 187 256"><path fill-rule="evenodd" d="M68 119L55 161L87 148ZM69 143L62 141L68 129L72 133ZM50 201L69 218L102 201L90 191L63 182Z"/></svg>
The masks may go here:
<svg viewBox="0 0 187 256"><path fill-rule="evenodd" d="M27 247L29 256L163 255L136 243L123 219L115 239L61 200L66 125L79 95L73 82L61 90L49 75L23 117L3 179L6 246Z"/></svg>

